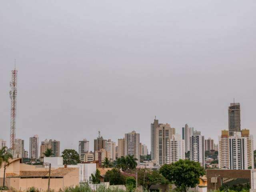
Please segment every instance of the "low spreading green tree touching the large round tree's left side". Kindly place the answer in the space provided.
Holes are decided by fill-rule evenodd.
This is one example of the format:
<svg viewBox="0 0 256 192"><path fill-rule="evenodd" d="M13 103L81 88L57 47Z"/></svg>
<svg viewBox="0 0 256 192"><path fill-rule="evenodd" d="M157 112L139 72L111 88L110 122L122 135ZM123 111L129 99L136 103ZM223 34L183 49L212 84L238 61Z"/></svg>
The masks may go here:
<svg viewBox="0 0 256 192"><path fill-rule="evenodd" d="M150 186L155 184L168 184L168 180L164 178L158 171L149 169L138 169L138 184L144 186L149 191Z"/></svg>

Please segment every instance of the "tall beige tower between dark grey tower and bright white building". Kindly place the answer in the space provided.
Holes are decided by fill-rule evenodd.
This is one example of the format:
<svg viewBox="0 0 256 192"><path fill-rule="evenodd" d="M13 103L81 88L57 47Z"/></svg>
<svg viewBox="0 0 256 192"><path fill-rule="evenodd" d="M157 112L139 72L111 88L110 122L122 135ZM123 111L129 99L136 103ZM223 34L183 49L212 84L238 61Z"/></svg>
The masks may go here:
<svg viewBox="0 0 256 192"><path fill-rule="evenodd" d="M155 135L155 158L156 165L170 164L170 148L169 139L175 134L175 128L171 128L170 124L160 124L156 128Z"/></svg>

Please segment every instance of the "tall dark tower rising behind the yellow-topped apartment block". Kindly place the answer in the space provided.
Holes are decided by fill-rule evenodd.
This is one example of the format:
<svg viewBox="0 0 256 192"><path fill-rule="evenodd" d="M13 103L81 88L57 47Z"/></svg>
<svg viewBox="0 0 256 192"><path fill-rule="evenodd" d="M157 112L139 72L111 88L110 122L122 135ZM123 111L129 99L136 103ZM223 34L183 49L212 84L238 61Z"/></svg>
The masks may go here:
<svg viewBox="0 0 256 192"><path fill-rule="evenodd" d="M241 130L240 103L230 103L228 107L228 132L233 136L234 132Z"/></svg>

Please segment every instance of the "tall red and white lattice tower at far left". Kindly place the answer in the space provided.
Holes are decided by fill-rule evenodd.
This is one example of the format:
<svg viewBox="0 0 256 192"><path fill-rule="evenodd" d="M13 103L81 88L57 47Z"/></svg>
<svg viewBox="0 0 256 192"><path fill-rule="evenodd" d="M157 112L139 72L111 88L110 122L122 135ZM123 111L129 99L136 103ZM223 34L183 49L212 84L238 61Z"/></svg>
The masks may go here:
<svg viewBox="0 0 256 192"><path fill-rule="evenodd" d="M12 80L10 82L10 99L11 99L11 132L10 132L10 149L14 152L15 132L16 132L16 106L17 106L17 70L12 70Z"/></svg>

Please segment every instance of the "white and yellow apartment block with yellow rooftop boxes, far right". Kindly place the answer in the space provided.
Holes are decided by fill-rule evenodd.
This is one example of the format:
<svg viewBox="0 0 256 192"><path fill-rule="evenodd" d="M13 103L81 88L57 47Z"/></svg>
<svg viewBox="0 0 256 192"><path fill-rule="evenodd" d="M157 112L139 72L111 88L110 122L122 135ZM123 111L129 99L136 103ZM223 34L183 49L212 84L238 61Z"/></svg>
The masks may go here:
<svg viewBox="0 0 256 192"><path fill-rule="evenodd" d="M228 131L224 130L219 136L219 168L253 168L253 137L249 130L234 132L233 136L227 134Z"/></svg>

